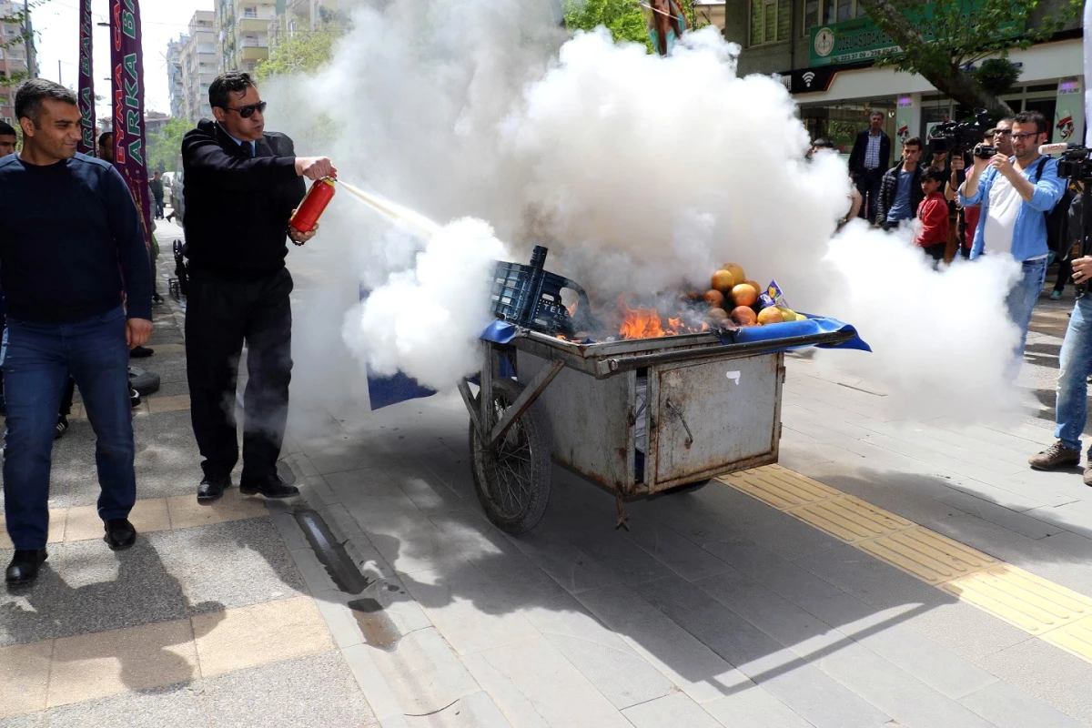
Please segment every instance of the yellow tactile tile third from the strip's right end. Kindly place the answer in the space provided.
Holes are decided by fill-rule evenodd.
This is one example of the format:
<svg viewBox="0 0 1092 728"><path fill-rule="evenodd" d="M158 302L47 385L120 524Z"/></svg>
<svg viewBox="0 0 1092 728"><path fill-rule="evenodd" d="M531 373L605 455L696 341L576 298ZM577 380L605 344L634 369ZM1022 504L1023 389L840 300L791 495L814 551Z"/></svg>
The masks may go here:
<svg viewBox="0 0 1092 728"><path fill-rule="evenodd" d="M862 551L934 585L1000 563L982 551L921 526L862 541L856 546Z"/></svg>

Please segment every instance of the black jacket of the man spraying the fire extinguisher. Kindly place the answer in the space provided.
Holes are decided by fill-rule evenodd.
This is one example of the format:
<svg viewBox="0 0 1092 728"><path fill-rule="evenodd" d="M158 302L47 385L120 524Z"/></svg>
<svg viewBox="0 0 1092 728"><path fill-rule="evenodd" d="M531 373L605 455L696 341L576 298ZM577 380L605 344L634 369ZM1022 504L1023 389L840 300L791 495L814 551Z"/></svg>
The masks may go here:
<svg viewBox="0 0 1092 728"><path fill-rule="evenodd" d="M304 199L292 140L266 132L256 157L207 119L182 138L187 258L194 271L229 281L278 272L292 211Z"/></svg>

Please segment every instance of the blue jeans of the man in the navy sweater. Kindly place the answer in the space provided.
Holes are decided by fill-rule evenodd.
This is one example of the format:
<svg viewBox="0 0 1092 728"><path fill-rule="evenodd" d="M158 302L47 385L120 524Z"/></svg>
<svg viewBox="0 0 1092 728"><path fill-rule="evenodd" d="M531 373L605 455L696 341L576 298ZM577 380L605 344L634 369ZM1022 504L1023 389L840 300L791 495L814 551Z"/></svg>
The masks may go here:
<svg viewBox="0 0 1092 728"><path fill-rule="evenodd" d="M57 408L70 373L97 438L98 515L104 521L128 517L136 499L136 476L124 310L119 306L66 324L9 318L0 368L8 399L4 516L15 548L40 549L46 545Z"/></svg>

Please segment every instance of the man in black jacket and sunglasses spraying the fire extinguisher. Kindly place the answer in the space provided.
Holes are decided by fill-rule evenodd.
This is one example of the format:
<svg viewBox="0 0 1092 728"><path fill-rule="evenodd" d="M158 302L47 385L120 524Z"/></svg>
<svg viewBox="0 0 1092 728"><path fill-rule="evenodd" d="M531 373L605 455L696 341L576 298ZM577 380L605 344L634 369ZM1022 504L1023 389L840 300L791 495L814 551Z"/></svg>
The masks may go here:
<svg viewBox="0 0 1092 728"><path fill-rule="evenodd" d="M215 121L182 140L189 291L186 367L193 434L204 458L198 500L219 498L239 458L235 389L247 345L244 493L289 498L299 490L276 472L292 379L292 275L286 238L304 180L335 174L325 157L297 157L292 140L264 131L265 104L250 75L232 71L209 87Z"/></svg>

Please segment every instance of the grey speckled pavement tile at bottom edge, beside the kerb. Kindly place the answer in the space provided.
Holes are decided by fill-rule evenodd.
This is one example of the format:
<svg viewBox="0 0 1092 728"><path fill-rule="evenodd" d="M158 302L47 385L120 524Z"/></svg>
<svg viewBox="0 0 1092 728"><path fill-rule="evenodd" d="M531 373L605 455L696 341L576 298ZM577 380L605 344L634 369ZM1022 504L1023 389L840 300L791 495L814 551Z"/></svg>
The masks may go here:
<svg viewBox="0 0 1092 728"><path fill-rule="evenodd" d="M379 726L336 651L205 679L204 689L217 727Z"/></svg>

